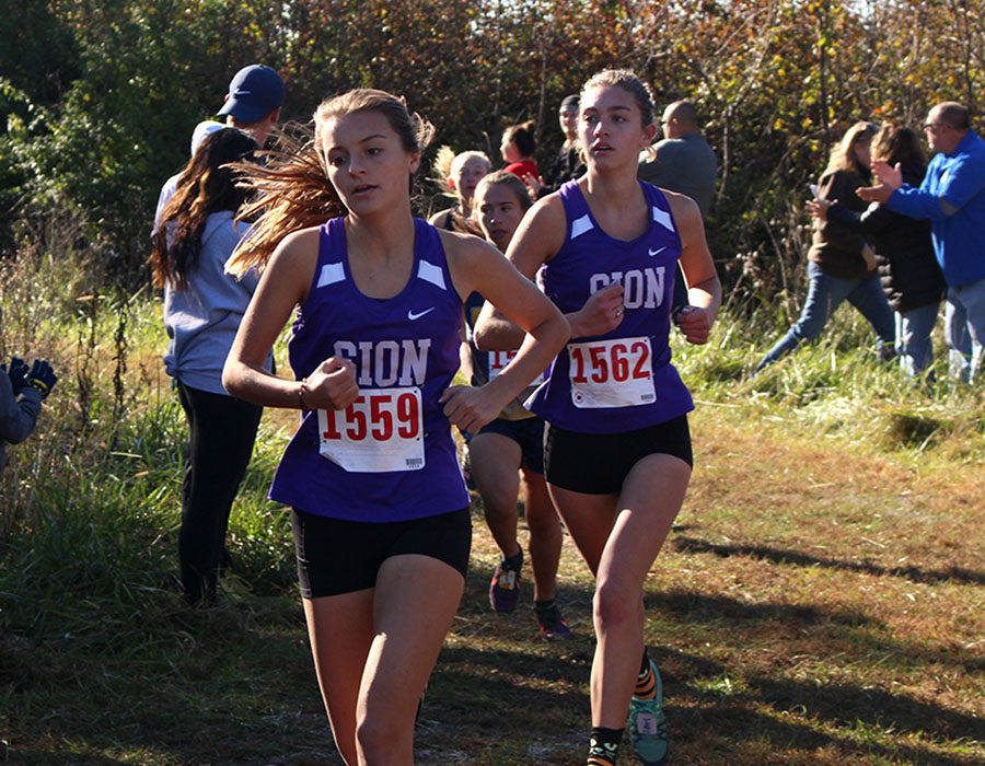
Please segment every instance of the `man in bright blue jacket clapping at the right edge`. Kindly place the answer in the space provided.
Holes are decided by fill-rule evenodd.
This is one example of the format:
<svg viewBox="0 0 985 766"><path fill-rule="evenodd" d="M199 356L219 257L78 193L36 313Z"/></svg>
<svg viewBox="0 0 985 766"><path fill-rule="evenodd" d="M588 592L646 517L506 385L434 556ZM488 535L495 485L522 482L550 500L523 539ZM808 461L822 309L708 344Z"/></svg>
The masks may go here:
<svg viewBox="0 0 985 766"><path fill-rule="evenodd" d="M919 187L903 183L899 165L879 162L872 166L879 184L858 196L930 219L934 254L948 283L950 372L971 381L985 341L985 141L971 129L967 109L951 101L930 109L924 130L935 154Z"/></svg>

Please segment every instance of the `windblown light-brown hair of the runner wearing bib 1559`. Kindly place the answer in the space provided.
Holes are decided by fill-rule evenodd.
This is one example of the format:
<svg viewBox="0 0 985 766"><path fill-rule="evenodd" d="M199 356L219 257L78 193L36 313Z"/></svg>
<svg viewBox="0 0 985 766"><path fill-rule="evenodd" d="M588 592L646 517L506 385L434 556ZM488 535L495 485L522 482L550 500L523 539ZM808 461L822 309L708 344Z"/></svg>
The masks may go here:
<svg viewBox="0 0 985 766"><path fill-rule="evenodd" d="M230 258L231 272L263 270L285 236L348 212L328 181L323 138L331 120L358 112L386 117L408 152L421 151L434 135L430 123L410 114L403 98L385 91L359 88L323 101L314 113L313 135L305 128L296 128L293 136L281 132L277 150L265 153L264 166L244 169L243 183L255 196L242 214L258 218Z"/></svg>

